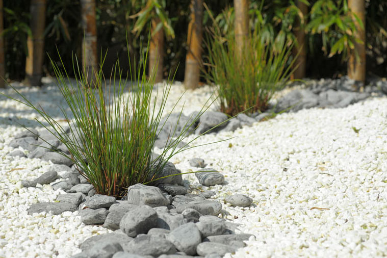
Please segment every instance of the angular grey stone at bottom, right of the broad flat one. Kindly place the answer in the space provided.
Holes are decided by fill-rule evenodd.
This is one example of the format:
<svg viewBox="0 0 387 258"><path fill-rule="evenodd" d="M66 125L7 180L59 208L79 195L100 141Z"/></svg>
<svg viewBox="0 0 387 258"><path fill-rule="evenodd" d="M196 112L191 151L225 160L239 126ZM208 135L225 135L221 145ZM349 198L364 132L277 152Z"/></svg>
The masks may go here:
<svg viewBox="0 0 387 258"><path fill-rule="evenodd" d="M167 239L175 245L177 250L188 255L195 255L196 246L201 242L200 231L192 222L172 230Z"/></svg>

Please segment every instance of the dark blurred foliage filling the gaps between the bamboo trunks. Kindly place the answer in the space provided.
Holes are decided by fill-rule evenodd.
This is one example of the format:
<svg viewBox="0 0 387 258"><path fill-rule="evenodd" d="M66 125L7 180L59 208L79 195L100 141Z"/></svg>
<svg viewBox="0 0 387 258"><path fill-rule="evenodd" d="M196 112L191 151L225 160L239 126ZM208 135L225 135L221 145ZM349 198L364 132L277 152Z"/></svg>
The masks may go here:
<svg viewBox="0 0 387 258"><path fill-rule="evenodd" d="M184 80L187 52L187 27L190 15L190 0L96 0L96 23L98 51L108 50L104 72L110 74L112 66L120 59L121 67L128 66L126 35L130 53L138 60L141 45L147 44L149 17L146 8L152 2L159 9L157 15L163 17L159 29L165 30L164 75L174 72L175 80ZM222 29L227 33L232 20L233 2L207 0L208 9ZM302 1L308 5L304 17L293 1L250 1L250 28L260 24L263 28L262 40L274 42L276 46L292 44L292 32L296 18L301 20L307 40L306 76L310 78L335 78L346 74L345 60L348 49L355 41L353 19L348 15L344 0ZM152 6L152 8L155 8ZM369 74L385 77L387 74L387 1L366 0L366 43L367 71ZM29 28L30 1L4 0L4 40L6 78L22 80L25 75L25 55ZM212 25L206 9L203 11L203 28ZM161 28L163 27L163 28ZM83 29L79 0L49 0L46 9L45 52L57 56L57 48L64 64L71 67L72 54L81 56ZM204 36L205 38L205 36ZM208 49L203 42L203 57ZM205 60L205 58L204 58ZM58 64L60 65L60 64ZM53 75L49 59L45 56L43 72ZM71 75L71 74L70 74Z"/></svg>

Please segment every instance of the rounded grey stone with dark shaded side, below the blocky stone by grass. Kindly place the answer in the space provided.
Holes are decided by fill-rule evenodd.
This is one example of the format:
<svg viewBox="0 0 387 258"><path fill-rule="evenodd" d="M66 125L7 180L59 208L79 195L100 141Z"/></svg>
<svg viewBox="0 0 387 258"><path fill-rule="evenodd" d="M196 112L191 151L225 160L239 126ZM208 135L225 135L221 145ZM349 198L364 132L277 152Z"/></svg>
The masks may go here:
<svg viewBox="0 0 387 258"><path fill-rule="evenodd" d="M157 225L157 213L148 205L128 211L120 221L120 229L129 237L146 234Z"/></svg>

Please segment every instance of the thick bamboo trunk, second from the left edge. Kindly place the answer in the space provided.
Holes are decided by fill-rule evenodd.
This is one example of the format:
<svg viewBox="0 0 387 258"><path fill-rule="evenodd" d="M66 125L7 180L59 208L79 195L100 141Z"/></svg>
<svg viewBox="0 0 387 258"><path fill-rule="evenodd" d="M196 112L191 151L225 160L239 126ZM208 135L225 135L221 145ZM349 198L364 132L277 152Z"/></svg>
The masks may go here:
<svg viewBox="0 0 387 258"><path fill-rule="evenodd" d="M43 66L46 0L32 0L30 8L32 37L29 35L27 39L28 56L25 59L25 81L28 85L40 86Z"/></svg>

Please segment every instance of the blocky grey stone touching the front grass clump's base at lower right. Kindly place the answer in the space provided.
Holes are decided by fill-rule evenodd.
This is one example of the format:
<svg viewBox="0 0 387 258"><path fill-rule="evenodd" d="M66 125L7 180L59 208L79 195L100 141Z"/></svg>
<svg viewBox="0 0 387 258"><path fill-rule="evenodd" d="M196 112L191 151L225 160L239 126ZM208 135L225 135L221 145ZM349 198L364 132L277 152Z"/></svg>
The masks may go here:
<svg viewBox="0 0 387 258"><path fill-rule="evenodd" d="M127 201L136 205L149 205L150 207L166 206L169 201L161 190L154 186L136 184L127 189Z"/></svg>

